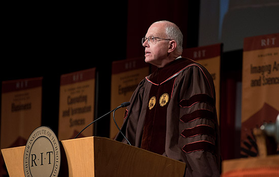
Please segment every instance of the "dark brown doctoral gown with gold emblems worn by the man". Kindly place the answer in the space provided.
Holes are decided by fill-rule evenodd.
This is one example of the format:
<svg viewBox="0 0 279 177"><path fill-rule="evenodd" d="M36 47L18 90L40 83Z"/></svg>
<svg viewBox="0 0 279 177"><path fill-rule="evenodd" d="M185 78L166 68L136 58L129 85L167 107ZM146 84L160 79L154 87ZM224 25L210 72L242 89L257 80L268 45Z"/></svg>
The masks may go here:
<svg viewBox="0 0 279 177"><path fill-rule="evenodd" d="M121 129L131 145L185 162L185 176L220 175L215 88L204 67L179 58L158 68L130 103Z"/></svg>

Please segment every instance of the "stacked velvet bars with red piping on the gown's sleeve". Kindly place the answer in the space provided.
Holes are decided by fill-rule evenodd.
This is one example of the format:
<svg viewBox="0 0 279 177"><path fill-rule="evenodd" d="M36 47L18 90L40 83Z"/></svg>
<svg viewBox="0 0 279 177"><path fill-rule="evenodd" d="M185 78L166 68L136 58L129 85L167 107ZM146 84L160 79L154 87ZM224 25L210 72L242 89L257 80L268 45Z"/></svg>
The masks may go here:
<svg viewBox="0 0 279 177"><path fill-rule="evenodd" d="M216 154L216 116L213 98L207 94L195 94L182 99L180 135L185 141L182 150L186 153L207 151Z"/></svg>

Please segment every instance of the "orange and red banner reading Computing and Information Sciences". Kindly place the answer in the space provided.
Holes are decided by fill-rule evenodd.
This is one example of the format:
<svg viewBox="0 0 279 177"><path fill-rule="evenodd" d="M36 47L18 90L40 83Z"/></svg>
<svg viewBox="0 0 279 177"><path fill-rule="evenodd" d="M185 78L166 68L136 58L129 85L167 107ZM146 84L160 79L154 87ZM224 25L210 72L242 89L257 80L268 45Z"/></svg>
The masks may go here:
<svg viewBox="0 0 279 177"><path fill-rule="evenodd" d="M58 139L74 138L93 121L95 103L95 68L61 75ZM93 136L87 128L80 137Z"/></svg>

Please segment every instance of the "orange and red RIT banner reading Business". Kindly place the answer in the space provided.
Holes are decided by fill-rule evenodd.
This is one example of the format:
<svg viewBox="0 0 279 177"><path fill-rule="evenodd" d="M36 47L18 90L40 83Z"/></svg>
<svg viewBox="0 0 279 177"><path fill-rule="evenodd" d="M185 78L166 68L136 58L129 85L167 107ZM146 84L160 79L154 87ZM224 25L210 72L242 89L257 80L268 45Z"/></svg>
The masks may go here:
<svg viewBox="0 0 279 177"><path fill-rule="evenodd" d="M41 126L42 77L2 82L1 149L25 146Z"/></svg>

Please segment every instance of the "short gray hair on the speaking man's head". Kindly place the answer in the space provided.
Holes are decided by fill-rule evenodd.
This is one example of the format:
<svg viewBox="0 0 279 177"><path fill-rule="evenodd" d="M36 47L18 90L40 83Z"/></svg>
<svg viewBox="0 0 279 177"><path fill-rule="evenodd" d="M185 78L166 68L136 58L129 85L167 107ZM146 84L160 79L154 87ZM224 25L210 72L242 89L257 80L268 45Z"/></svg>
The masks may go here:
<svg viewBox="0 0 279 177"><path fill-rule="evenodd" d="M178 52L182 53L183 34L180 31L179 27L175 23L166 20L157 21L155 23L161 23L161 22L165 24L166 36L169 39L175 40L177 42L177 50Z"/></svg>

